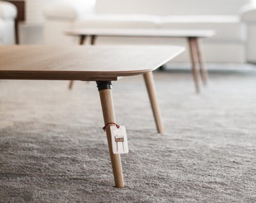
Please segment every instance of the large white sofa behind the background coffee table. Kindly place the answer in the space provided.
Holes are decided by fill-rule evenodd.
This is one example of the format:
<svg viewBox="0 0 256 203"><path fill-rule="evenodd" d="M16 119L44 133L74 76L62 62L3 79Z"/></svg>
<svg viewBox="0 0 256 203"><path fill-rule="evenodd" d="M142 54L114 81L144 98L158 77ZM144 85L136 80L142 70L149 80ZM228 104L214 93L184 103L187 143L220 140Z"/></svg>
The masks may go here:
<svg viewBox="0 0 256 203"><path fill-rule="evenodd" d="M44 8L46 44L78 44L77 28L214 29L203 39L206 62L256 62L256 18L251 0L71 0ZM251 23L252 22L252 23ZM247 33L247 29L250 30ZM181 39L98 38L97 44L180 44ZM188 54L176 62L187 62Z"/></svg>

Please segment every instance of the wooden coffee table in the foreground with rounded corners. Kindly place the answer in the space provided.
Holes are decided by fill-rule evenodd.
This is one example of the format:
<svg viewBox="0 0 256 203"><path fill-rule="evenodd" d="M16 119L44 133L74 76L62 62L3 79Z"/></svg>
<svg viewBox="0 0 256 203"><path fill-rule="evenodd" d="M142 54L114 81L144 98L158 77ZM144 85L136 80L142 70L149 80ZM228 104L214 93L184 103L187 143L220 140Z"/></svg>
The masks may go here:
<svg viewBox="0 0 256 203"><path fill-rule="evenodd" d="M108 148L116 187L123 187L120 154L113 153L110 126L114 126L111 81L144 74L184 50L173 46L0 46L0 80L96 81L102 105ZM151 80L154 82L154 80ZM154 83L149 84L155 97Z"/></svg>

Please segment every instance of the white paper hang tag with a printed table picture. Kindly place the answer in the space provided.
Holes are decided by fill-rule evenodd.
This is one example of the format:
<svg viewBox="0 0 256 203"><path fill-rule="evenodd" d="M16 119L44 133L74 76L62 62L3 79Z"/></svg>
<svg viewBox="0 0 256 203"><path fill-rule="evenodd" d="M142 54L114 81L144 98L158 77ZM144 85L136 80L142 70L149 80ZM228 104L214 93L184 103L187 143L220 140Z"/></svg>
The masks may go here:
<svg viewBox="0 0 256 203"><path fill-rule="evenodd" d="M128 153L128 141L125 126L110 126L113 153Z"/></svg>

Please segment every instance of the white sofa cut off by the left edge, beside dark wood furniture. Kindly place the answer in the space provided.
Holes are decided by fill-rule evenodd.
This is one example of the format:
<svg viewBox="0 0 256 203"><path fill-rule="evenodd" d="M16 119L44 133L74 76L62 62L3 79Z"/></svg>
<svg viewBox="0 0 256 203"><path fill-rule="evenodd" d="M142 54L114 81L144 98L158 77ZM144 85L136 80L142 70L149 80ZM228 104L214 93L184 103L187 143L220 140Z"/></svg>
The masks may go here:
<svg viewBox="0 0 256 203"><path fill-rule="evenodd" d="M14 44L16 17L16 6L9 2L0 1L0 44Z"/></svg>

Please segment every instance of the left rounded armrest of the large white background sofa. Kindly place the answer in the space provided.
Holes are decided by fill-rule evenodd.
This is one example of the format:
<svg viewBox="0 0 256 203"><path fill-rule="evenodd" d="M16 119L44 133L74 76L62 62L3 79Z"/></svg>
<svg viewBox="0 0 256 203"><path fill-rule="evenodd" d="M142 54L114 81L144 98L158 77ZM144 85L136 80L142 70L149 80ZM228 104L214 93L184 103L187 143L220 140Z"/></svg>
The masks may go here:
<svg viewBox="0 0 256 203"><path fill-rule="evenodd" d="M55 2L44 8L47 20L76 20L94 13L94 5L84 2Z"/></svg>

